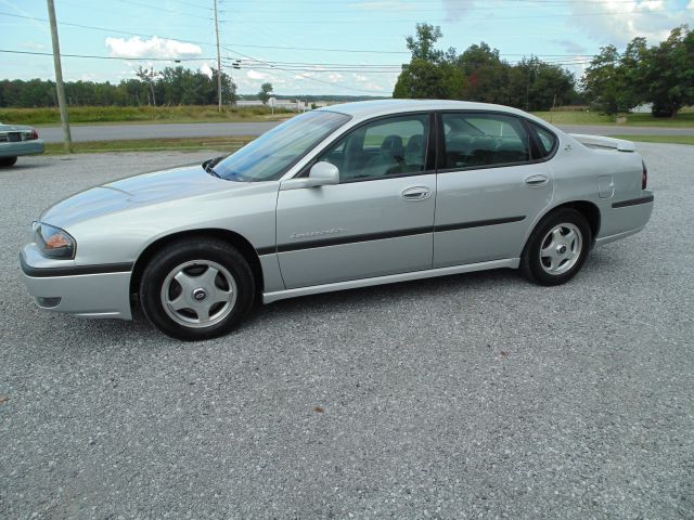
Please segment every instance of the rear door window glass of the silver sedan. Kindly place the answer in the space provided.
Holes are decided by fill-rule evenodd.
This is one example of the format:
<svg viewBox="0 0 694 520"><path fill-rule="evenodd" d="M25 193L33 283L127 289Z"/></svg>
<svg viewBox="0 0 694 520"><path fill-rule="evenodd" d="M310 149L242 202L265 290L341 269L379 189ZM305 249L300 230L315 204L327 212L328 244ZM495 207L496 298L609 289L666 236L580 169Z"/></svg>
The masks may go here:
<svg viewBox="0 0 694 520"><path fill-rule="evenodd" d="M444 169L512 165L530 160L530 140L519 119L502 114L442 114Z"/></svg>

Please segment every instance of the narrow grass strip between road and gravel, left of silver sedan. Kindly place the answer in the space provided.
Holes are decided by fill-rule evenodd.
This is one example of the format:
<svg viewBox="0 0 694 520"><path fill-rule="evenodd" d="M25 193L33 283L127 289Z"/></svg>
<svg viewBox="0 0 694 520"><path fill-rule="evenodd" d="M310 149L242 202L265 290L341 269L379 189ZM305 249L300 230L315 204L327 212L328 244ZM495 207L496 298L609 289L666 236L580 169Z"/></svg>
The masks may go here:
<svg viewBox="0 0 694 520"><path fill-rule="evenodd" d="M124 141L92 141L73 143L76 154L99 154L104 152L197 152L201 150L216 150L234 152L244 144L253 141L254 136L233 138L182 138L182 139L142 139ZM62 143L47 143L46 154L63 155Z"/></svg>

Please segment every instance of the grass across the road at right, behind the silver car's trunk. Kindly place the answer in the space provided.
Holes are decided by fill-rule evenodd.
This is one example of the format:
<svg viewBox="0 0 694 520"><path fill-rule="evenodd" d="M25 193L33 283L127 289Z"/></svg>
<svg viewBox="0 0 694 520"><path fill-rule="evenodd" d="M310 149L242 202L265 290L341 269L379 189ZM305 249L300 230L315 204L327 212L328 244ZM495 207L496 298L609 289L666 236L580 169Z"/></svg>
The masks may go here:
<svg viewBox="0 0 694 520"><path fill-rule="evenodd" d="M620 114L620 117L627 118L626 122L615 122L609 116L597 112L556 110L535 112L534 114L552 125L617 125L625 127L664 128L694 127L694 112L689 109L681 110L674 119L653 117L651 114Z"/></svg>

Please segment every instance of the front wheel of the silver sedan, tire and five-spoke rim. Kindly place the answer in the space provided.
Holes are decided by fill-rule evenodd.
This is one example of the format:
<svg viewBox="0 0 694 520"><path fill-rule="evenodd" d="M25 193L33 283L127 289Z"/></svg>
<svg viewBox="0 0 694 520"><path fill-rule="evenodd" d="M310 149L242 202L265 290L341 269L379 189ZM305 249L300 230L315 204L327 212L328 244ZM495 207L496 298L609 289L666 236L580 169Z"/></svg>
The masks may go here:
<svg viewBox="0 0 694 520"><path fill-rule="evenodd" d="M213 238L167 245L146 264L140 301L147 320L184 341L233 330L253 306L255 280L233 246Z"/></svg>

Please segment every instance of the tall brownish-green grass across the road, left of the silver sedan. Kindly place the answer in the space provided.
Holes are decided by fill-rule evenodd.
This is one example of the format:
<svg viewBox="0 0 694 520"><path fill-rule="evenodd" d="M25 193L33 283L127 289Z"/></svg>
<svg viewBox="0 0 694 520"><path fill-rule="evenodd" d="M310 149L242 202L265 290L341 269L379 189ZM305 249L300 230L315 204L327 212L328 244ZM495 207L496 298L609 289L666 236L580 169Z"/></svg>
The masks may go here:
<svg viewBox="0 0 694 520"><path fill-rule="evenodd" d="M69 108L70 123L114 122L240 122L274 121L294 113L264 106L222 108L217 106L75 106ZM60 125L57 108L0 108L0 121L13 125Z"/></svg>

